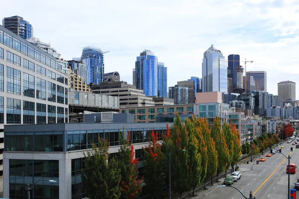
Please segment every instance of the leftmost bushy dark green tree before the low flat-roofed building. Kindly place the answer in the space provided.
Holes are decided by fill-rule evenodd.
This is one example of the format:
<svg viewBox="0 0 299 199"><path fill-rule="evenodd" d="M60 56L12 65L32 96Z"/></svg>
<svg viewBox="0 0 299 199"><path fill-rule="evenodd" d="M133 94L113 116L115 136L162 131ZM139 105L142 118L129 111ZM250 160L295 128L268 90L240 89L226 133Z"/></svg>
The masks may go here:
<svg viewBox="0 0 299 199"><path fill-rule="evenodd" d="M107 140L100 137L98 139L98 147L92 144L92 150L84 153L82 188L86 197L90 199L119 199L121 196L119 184L122 177L120 169L114 159L108 162Z"/></svg>

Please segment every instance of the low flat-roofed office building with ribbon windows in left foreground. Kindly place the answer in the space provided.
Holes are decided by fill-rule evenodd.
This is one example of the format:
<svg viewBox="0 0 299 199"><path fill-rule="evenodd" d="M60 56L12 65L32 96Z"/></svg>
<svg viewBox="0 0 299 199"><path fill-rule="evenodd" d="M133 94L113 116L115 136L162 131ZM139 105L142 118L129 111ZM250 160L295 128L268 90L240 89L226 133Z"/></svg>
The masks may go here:
<svg viewBox="0 0 299 199"><path fill-rule="evenodd" d="M82 199L81 172L84 153L98 136L107 139L109 153L118 153L120 137L134 145L135 158L142 158L143 147L149 145L151 129L162 140L165 123L63 123L5 125L3 153L3 197L26 199L25 186L40 181L31 190L34 199ZM142 164L139 164L139 168Z"/></svg>

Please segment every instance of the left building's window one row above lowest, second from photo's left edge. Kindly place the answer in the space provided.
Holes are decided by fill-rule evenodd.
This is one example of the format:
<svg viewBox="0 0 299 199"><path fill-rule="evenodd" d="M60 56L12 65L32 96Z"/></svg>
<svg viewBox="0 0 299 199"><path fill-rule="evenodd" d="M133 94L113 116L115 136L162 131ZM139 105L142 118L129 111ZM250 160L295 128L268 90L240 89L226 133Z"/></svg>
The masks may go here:
<svg viewBox="0 0 299 199"><path fill-rule="evenodd" d="M6 66L6 92L21 95L21 72Z"/></svg>

